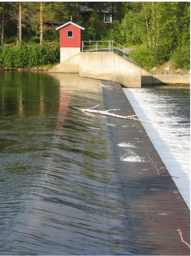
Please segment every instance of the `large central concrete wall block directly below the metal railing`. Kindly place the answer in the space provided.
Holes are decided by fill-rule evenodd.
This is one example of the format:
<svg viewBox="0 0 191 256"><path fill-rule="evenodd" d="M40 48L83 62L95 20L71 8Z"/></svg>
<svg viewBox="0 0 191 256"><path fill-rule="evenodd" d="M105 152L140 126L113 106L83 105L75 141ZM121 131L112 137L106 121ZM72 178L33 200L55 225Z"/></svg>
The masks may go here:
<svg viewBox="0 0 191 256"><path fill-rule="evenodd" d="M141 87L141 68L114 53L81 53L79 75Z"/></svg>

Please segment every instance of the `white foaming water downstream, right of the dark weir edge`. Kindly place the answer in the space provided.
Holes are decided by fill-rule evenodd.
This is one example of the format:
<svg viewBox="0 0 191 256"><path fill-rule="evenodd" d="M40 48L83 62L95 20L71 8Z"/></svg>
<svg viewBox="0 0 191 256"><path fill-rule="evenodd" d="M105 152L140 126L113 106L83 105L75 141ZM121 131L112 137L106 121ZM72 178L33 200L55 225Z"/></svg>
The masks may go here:
<svg viewBox="0 0 191 256"><path fill-rule="evenodd" d="M190 104L185 89L124 88L136 114L190 209Z"/></svg>

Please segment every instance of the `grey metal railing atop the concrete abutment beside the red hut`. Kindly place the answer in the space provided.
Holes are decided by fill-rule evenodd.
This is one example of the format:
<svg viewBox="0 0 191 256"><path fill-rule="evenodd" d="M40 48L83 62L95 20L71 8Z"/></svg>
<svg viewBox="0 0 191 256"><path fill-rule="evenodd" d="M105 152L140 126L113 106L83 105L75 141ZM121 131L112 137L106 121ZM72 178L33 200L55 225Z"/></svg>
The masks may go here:
<svg viewBox="0 0 191 256"><path fill-rule="evenodd" d="M84 45L85 42L88 42L88 43L95 42L95 45ZM108 45L99 45L99 44L97 44L99 42L104 42L104 43L107 42ZM118 46L122 47L122 49L117 48L114 45L115 46L118 45ZM113 40L108 40L108 41L82 41L82 53L84 52L84 47L94 47L96 52L98 50L98 47L108 47L109 53L113 53L113 49L117 49L117 50L119 50L123 53L123 58L125 58L125 47L123 47L122 45L117 44Z"/></svg>

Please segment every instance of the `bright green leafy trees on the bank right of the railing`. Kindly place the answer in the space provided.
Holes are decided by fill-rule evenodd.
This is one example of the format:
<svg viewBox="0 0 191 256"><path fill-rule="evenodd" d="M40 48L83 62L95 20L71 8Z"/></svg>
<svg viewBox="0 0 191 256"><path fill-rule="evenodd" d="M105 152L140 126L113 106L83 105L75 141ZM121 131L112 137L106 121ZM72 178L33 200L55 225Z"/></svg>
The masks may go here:
<svg viewBox="0 0 191 256"><path fill-rule="evenodd" d="M144 67L172 59L176 68L189 68L190 3L131 2L126 7L120 31L126 45L136 45L131 58Z"/></svg>

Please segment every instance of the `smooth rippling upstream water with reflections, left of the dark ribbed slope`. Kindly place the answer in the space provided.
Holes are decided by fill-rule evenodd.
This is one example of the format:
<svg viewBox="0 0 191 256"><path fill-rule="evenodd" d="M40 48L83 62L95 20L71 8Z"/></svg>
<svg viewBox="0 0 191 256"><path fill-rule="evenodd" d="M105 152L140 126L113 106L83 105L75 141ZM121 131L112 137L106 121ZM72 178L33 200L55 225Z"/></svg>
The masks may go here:
<svg viewBox="0 0 191 256"><path fill-rule="evenodd" d="M0 77L0 254L130 255L100 81Z"/></svg>

